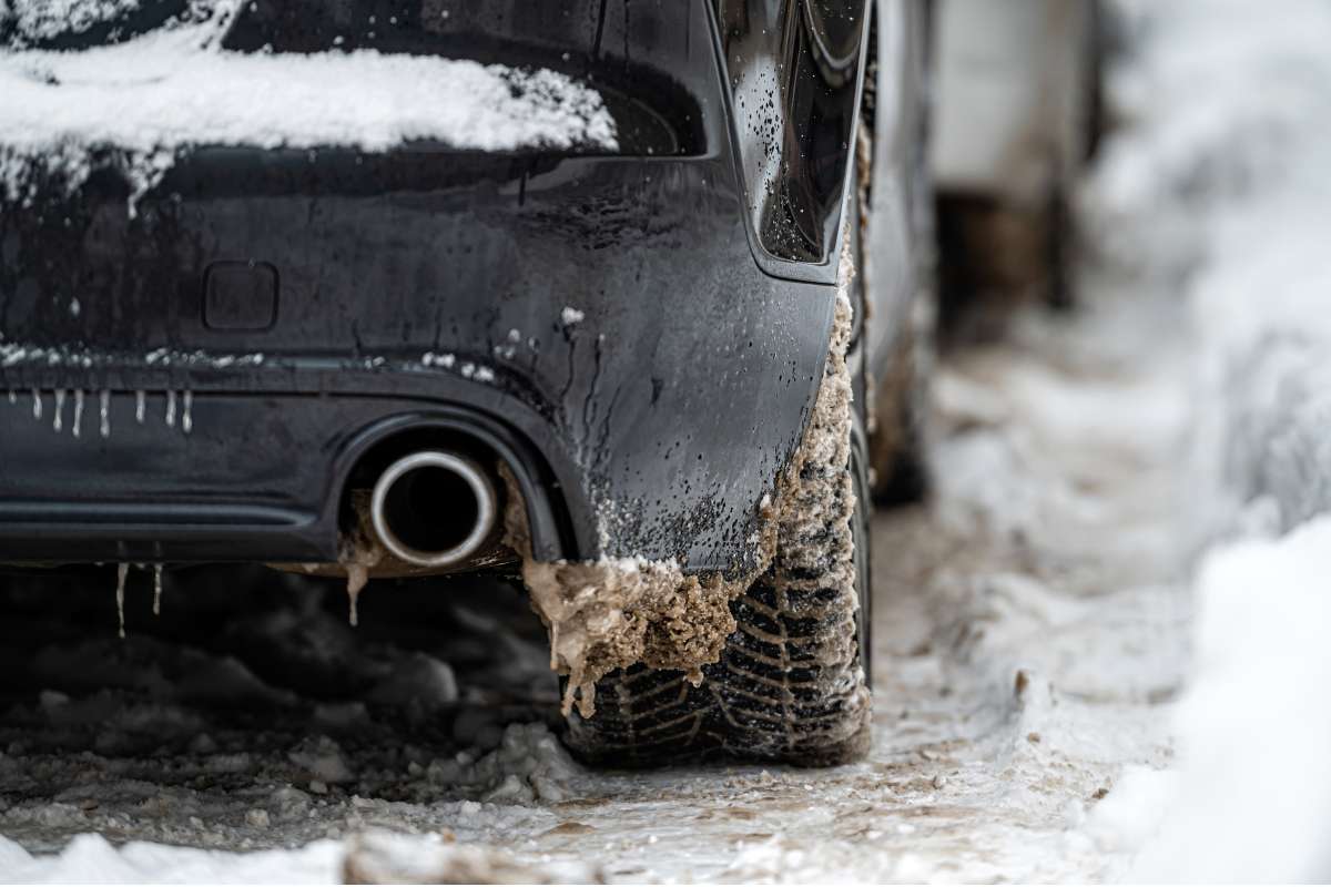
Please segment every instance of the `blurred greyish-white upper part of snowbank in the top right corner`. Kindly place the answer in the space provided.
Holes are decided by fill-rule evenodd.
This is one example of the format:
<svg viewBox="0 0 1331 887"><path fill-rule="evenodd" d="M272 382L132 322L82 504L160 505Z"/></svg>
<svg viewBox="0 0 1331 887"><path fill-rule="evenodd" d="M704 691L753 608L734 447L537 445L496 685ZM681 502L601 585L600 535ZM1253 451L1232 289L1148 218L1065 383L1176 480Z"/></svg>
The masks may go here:
<svg viewBox="0 0 1331 887"><path fill-rule="evenodd" d="M1182 290L1201 350L1203 539L1331 508L1331 7L1121 3L1130 129L1087 194L1097 239ZM1247 513L1239 513L1246 511Z"/></svg>

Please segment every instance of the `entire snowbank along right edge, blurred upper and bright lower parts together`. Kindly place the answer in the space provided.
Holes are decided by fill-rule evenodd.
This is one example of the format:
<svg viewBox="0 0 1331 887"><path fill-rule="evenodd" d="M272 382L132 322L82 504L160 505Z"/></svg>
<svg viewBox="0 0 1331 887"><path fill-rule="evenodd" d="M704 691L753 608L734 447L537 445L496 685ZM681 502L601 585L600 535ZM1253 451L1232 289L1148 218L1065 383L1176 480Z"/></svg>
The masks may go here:
<svg viewBox="0 0 1331 887"><path fill-rule="evenodd" d="M1181 293L1205 547L1178 771L1095 811L1145 880L1324 880L1331 850L1331 5L1121 3L1130 122L1087 193L1110 258ZM1283 537L1282 537L1283 535ZM1236 540L1236 541L1235 541ZM1154 824L1158 823L1158 831Z"/></svg>

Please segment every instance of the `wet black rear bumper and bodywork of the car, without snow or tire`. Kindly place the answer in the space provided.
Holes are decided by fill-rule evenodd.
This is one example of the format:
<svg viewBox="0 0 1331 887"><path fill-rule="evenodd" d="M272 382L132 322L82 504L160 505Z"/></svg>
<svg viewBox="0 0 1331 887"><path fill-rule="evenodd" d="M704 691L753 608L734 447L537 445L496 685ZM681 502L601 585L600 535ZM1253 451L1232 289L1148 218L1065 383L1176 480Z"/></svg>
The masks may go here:
<svg viewBox="0 0 1331 887"><path fill-rule="evenodd" d="M323 47L280 27L321 1L233 49ZM3 207L0 561L334 560L359 455L438 427L515 469L543 560L749 567L821 379L868 4L749 4L803 60L779 133L728 113L728 1L435 7L327 4L357 45L588 72L640 153L202 146L133 201L112 164ZM763 150L819 217L804 261L763 239Z"/></svg>

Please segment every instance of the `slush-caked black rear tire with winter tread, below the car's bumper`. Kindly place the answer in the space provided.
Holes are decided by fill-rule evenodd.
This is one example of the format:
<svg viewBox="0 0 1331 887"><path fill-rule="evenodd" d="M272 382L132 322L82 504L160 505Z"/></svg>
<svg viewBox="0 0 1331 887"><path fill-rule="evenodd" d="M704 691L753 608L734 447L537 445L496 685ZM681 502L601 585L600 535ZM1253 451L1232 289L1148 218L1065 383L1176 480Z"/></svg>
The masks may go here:
<svg viewBox="0 0 1331 887"><path fill-rule="evenodd" d="M862 422L848 396L848 339L849 323L839 322L819 406L783 484L772 563L731 602L736 630L720 660L696 686L683 672L643 665L598 681L596 713L575 710L567 721L580 759L833 766L868 753L872 504Z"/></svg>

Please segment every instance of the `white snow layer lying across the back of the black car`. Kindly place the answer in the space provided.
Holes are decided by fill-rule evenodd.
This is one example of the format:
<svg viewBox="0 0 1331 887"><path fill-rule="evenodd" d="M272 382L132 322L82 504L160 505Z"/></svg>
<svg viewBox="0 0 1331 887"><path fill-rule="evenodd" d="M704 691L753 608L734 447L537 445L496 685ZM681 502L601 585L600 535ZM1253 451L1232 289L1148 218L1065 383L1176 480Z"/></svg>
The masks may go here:
<svg viewBox="0 0 1331 887"><path fill-rule="evenodd" d="M57 33L47 12L33 12L49 11L51 1L17 0L9 15L28 28L20 37ZM73 32L112 21L138 0L55 4ZM77 52L21 41L0 49L0 182L9 197L35 166L56 168L77 185L93 154L108 149L142 193L192 145L616 148L600 93L562 73L367 49L229 52L221 39L240 7L196 0L192 15L165 27Z"/></svg>

